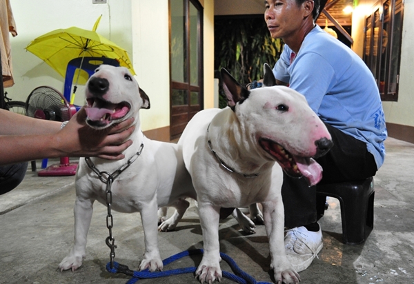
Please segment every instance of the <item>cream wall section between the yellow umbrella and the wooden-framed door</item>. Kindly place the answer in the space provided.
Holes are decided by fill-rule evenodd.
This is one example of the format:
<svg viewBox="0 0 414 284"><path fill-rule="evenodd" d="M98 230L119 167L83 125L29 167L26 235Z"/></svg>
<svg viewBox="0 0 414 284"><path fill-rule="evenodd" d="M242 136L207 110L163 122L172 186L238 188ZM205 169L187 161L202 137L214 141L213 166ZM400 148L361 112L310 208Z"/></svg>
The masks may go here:
<svg viewBox="0 0 414 284"><path fill-rule="evenodd" d="M143 130L170 125L168 0L132 0L132 57L151 108L141 110Z"/></svg>

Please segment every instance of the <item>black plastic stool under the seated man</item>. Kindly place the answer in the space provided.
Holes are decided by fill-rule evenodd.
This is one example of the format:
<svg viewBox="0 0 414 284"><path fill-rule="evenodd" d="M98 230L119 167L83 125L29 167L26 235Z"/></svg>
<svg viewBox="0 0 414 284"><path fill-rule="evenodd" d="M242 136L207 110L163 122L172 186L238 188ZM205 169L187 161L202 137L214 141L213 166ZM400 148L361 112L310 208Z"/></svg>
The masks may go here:
<svg viewBox="0 0 414 284"><path fill-rule="evenodd" d="M374 181L330 183L317 185L317 216L324 216L326 196L341 205L342 241L348 245L362 243L374 227Z"/></svg>

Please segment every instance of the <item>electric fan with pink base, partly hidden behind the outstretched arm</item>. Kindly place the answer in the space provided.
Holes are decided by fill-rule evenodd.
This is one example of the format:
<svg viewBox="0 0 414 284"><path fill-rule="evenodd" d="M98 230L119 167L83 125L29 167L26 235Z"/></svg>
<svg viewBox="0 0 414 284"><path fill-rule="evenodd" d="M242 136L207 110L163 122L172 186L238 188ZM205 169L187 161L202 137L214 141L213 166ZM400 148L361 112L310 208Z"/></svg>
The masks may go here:
<svg viewBox="0 0 414 284"><path fill-rule="evenodd" d="M48 86L35 88L26 100L26 115L37 119L68 121L75 112L75 107L69 105L59 91ZM43 160L42 168L46 168L45 161L47 164L48 160ZM76 168L77 163L70 163L69 157L61 157L59 164L50 165L37 174L39 176L72 176L75 175Z"/></svg>

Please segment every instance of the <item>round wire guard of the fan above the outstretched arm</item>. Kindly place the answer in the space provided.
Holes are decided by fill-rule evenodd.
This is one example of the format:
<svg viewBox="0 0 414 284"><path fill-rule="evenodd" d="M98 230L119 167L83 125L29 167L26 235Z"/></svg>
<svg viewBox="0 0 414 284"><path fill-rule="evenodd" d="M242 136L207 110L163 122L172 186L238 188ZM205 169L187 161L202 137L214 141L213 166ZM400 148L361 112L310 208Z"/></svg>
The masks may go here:
<svg viewBox="0 0 414 284"><path fill-rule="evenodd" d="M26 115L50 121L68 121L70 105L59 91L40 86L32 90L26 100Z"/></svg>

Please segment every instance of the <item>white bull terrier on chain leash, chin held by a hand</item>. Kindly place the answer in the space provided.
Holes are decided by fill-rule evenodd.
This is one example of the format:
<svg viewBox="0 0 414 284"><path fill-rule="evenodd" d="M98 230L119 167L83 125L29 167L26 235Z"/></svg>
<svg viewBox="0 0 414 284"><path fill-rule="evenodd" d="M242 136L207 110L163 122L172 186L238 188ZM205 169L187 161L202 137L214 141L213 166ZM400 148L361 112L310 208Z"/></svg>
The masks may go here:
<svg viewBox="0 0 414 284"><path fill-rule="evenodd" d="M157 210L164 206L176 208L170 219L159 225L159 230L172 230L188 208L185 198L196 198L190 175L184 166L181 146L152 141L141 132L139 109L150 108L150 101L127 68L101 65L86 84L86 101L86 123L98 130L130 116L135 117L135 131L129 137L133 143L125 150L125 159L109 161L90 158L89 163L92 162L99 173L112 174L125 167L128 159L135 159L112 183L111 209L141 214L146 249L139 270L162 270L157 242ZM108 176L103 174L103 177ZM106 183L92 171L86 159L79 161L75 186L75 245L59 264L61 270L74 271L81 266L92 219L92 205L95 201L104 205L107 202Z"/></svg>

